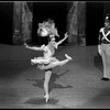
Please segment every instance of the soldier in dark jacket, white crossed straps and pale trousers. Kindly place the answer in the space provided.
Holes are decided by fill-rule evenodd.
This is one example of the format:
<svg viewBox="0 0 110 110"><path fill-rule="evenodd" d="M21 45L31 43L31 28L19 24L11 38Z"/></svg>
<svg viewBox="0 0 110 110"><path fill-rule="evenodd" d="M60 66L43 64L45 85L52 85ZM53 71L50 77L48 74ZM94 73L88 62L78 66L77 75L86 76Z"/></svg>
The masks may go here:
<svg viewBox="0 0 110 110"><path fill-rule="evenodd" d="M103 77L102 80L110 80L110 21L109 14L105 20L105 28L99 31L98 52L102 57Z"/></svg>

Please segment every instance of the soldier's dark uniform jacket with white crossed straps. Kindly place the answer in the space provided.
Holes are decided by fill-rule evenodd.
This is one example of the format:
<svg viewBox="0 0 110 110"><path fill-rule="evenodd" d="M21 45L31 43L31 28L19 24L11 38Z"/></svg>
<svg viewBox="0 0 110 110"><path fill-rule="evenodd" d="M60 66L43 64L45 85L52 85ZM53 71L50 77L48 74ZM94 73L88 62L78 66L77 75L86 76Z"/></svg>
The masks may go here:
<svg viewBox="0 0 110 110"><path fill-rule="evenodd" d="M99 42L98 44L110 44L110 29L101 28L99 31Z"/></svg>

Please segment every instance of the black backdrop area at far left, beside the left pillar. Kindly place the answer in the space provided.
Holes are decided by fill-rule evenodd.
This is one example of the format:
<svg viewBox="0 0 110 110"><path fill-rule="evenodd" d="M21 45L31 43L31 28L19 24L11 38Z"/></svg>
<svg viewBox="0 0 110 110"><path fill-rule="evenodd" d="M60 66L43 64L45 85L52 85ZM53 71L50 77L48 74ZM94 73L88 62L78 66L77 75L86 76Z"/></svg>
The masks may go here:
<svg viewBox="0 0 110 110"><path fill-rule="evenodd" d="M13 2L0 2L0 43L12 44Z"/></svg>

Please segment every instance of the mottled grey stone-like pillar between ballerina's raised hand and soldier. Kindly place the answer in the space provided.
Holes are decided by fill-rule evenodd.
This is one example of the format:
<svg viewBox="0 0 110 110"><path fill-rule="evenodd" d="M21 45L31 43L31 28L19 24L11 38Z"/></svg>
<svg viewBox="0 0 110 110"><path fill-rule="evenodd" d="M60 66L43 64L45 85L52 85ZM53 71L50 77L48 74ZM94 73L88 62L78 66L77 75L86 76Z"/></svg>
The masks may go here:
<svg viewBox="0 0 110 110"><path fill-rule="evenodd" d="M86 2L73 1L67 15L68 43L86 45Z"/></svg>

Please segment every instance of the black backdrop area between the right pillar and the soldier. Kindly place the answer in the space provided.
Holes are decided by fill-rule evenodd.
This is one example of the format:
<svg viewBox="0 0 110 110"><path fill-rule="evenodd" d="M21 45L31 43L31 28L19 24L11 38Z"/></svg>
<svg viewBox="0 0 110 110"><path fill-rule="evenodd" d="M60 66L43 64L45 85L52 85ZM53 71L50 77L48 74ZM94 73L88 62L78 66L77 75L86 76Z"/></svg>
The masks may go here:
<svg viewBox="0 0 110 110"><path fill-rule="evenodd" d="M86 44L97 45L99 30L103 26L103 2L87 2L86 6Z"/></svg>

